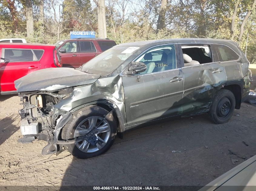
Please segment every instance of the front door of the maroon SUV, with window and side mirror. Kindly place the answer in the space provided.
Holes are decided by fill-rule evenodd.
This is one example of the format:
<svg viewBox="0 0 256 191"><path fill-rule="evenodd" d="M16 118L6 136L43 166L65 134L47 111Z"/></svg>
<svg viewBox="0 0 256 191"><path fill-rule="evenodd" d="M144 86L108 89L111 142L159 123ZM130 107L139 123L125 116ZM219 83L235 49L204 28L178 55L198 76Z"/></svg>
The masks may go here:
<svg viewBox="0 0 256 191"><path fill-rule="evenodd" d="M62 67L78 68L79 63L79 53L77 48L77 41L68 41L63 44L60 48L65 48L65 53L60 53Z"/></svg>

